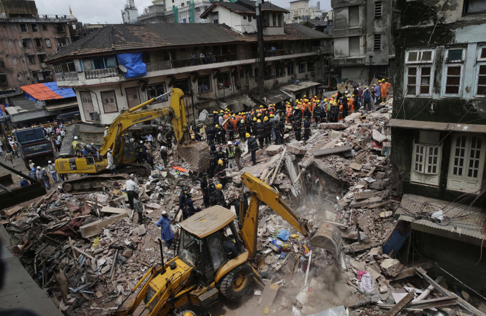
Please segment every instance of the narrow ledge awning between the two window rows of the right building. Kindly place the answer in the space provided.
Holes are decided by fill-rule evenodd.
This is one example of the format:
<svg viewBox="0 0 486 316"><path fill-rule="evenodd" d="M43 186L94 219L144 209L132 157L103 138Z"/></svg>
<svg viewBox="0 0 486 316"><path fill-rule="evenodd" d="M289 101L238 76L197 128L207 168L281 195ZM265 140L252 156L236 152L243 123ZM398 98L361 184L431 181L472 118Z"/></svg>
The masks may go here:
<svg viewBox="0 0 486 316"><path fill-rule="evenodd" d="M431 131L452 131L463 133L486 133L486 125L478 124L456 124L456 123L441 123L441 122L427 122L427 121L410 121L392 119L388 121L388 126L404 128L404 129L419 129Z"/></svg>

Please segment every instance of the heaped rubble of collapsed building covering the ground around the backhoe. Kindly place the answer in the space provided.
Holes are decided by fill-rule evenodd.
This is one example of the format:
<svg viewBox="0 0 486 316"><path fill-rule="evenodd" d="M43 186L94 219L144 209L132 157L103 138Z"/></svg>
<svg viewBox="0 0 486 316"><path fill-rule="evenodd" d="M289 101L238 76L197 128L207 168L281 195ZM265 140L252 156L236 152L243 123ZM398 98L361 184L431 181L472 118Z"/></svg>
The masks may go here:
<svg viewBox="0 0 486 316"><path fill-rule="evenodd" d="M400 228L395 211L401 176L389 162L390 116L391 100L374 112L321 123L306 142L295 141L287 126L286 143L258 150L255 166L243 148L246 167L228 172L228 208L239 215L233 205L248 196L240 178L248 172L277 188L280 198L314 226L336 225L343 239L340 254L312 248L289 223L261 205L253 261L261 279L253 293L263 312L395 315L435 308L484 315L474 307L477 293L458 295L442 278L429 277L431 262L404 265L393 251L384 252L392 231ZM194 206L204 207L198 178L186 168L172 162L148 179L138 178L146 217L142 224L127 208L123 183L110 180L98 192L52 191L30 205L6 210L2 224L15 241L13 252L65 314L108 313L125 304L149 267L160 262L160 229L154 223L162 211L181 220L181 189L188 187ZM164 248L163 256L174 255L174 248ZM57 265L68 280L67 302L54 278Z"/></svg>

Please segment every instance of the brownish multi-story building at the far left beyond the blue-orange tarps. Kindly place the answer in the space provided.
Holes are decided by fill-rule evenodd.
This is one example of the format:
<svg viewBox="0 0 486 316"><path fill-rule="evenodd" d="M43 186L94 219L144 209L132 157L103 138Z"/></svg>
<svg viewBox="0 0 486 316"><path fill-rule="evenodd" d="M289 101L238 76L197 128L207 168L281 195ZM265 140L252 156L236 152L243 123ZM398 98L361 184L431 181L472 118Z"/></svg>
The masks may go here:
<svg viewBox="0 0 486 316"><path fill-rule="evenodd" d="M69 17L39 15L34 1L0 1L0 91L52 82L44 61L70 43Z"/></svg>

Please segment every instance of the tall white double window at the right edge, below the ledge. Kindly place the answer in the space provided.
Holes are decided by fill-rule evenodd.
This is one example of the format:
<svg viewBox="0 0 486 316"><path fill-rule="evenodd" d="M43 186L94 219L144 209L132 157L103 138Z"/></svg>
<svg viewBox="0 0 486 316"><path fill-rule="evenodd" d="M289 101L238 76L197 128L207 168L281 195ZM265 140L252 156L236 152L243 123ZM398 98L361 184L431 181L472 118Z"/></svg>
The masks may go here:
<svg viewBox="0 0 486 316"><path fill-rule="evenodd" d="M465 147L464 147L464 156L463 156L463 163L460 165L462 167L462 175L454 175L454 167L456 163L455 153L456 153L456 142L459 137L466 137ZM472 145L472 138L476 137L481 140L481 148L479 154L479 162L477 168L477 177L470 177L468 176L468 166L470 162L470 154L471 154L471 145ZM482 173L484 169L484 156L486 153L486 139L481 136L480 134L455 134L452 137L451 141L451 153L449 159L449 170L447 175L447 189L454 190L454 191L461 191L461 192L473 192L478 190L481 187L482 182Z"/></svg>

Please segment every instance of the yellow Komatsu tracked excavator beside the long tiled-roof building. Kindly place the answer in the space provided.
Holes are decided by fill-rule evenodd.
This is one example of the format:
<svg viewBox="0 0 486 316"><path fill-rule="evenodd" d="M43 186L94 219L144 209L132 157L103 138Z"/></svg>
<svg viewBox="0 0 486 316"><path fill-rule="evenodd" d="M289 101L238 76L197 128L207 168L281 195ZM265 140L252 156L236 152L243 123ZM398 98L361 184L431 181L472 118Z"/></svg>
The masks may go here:
<svg viewBox="0 0 486 316"><path fill-rule="evenodd" d="M142 109L144 106L171 94L170 106L153 109ZM108 160L106 153L111 149L113 161L116 166L123 166L119 173L136 173L148 176L150 169L143 164L135 164L137 153L135 144L128 137L126 131L137 123L154 120L160 116L172 116L172 126L176 140L179 144L178 153L191 166L192 171L205 171L209 167L209 146L206 142L191 141L186 121L186 111L181 89L174 88L170 92L152 98L129 110L121 112L111 123L103 144L99 149L102 161L96 161L95 157L72 157L56 159L56 170L60 174L89 174L88 177L80 177L63 182L63 189L66 192L79 193L92 191L101 188L103 180L125 179L123 175L111 176L102 175L106 170ZM93 175L95 174L95 175Z"/></svg>

